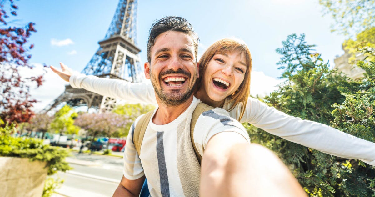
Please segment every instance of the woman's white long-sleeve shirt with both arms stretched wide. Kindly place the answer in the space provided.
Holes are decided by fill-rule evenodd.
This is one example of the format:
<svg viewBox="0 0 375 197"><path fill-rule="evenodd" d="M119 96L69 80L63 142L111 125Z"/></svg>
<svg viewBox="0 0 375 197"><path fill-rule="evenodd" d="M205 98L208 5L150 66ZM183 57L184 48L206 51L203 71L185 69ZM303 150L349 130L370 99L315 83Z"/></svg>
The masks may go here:
<svg viewBox="0 0 375 197"><path fill-rule="evenodd" d="M129 102L157 104L151 83L131 83L123 80L73 74L69 82L74 88L83 88L100 95L123 99ZM226 105L224 109L230 107ZM237 118L241 106L237 105L229 115ZM245 114L240 122L252 125L277 135L285 140L343 158L359 159L375 166L375 143L339 131L330 126L302 120L269 107L255 98L249 98Z"/></svg>

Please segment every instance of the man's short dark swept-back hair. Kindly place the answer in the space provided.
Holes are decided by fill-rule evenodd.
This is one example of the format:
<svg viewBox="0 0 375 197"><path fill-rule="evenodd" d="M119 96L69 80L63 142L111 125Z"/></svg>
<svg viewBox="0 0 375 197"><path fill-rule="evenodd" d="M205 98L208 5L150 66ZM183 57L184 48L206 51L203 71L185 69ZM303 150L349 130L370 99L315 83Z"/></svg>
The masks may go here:
<svg viewBox="0 0 375 197"><path fill-rule="evenodd" d="M194 42L195 58L198 56L198 35L194 32L193 26L182 17L164 17L154 21L150 28L147 41L147 61L151 63L151 48L155 44L156 37L168 31L183 32L191 36Z"/></svg>

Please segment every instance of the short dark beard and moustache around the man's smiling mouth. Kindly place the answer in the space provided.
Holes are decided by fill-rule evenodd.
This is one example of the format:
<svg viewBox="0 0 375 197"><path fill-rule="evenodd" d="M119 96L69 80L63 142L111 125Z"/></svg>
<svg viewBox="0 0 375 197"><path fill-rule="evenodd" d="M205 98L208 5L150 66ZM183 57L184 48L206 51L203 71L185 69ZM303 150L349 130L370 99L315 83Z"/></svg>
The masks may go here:
<svg viewBox="0 0 375 197"><path fill-rule="evenodd" d="M157 87L157 80L159 80L160 83L163 83L162 76L167 75L167 74L184 74L184 75L187 75L190 78L189 81L192 82L192 87L191 88L189 87L187 89L187 91L184 92L184 93L179 93L179 90L172 90L171 93L166 93L163 90L163 87L161 86L161 84L160 84L159 87ZM178 105L182 104L183 102L187 101L187 99L189 99L190 96L194 92L195 85L196 85L195 84L196 78L197 78L197 73L195 73L194 76L191 77L191 74L189 72L184 71L183 69L178 69L177 71L168 70L168 71L165 71L165 72L161 72L159 74L158 78L156 78L152 74L152 72L150 74L151 84L154 87L156 95L159 97L159 99L162 101L162 103L167 107L178 106ZM175 93L173 93L173 91L175 91Z"/></svg>

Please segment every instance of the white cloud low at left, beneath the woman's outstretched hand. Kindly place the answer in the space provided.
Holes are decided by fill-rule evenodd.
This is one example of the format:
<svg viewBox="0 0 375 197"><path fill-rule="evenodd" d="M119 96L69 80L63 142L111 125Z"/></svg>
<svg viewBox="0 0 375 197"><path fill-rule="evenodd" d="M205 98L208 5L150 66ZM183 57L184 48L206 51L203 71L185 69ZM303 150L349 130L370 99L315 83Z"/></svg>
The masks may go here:
<svg viewBox="0 0 375 197"><path fill-rule="evenodd" d="M64 92L65 85L68 82L58 77L50 68L43 68L42 64L33 63L32 65L34 66L33 69L20 68L20 75L22 77L30 77L41 75L45 72L43 77L45 81L42 86L37 88L35 83L30 86L30 95L38 101L34 104L33 110L39 112Z"/></svg>

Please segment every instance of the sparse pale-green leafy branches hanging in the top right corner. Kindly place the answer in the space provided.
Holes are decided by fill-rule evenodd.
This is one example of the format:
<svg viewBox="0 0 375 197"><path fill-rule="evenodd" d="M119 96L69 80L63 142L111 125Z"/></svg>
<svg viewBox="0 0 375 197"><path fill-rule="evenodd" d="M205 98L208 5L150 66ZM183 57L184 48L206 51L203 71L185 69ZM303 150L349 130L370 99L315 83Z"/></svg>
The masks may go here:
<svg viewBox="0 0 375 197"><path fill-rule="evenodd" d="M375 26L375 0L319 0L335 22L332 32L355 35Z"/></svg>

